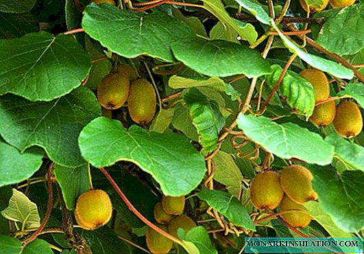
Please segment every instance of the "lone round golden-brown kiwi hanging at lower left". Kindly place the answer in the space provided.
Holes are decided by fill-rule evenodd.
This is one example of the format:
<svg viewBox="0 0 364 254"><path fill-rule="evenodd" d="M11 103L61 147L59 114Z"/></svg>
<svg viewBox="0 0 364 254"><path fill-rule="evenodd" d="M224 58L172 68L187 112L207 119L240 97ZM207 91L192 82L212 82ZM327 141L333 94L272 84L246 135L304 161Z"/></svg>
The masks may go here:
<svg viewBox="0 0 364 254"><path fill-rule="evenodd" d="M75 218L82 229L98 229L108 223L111 215L110 197L102 189L90 189L78 197Z"/></svg>

